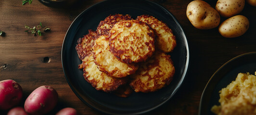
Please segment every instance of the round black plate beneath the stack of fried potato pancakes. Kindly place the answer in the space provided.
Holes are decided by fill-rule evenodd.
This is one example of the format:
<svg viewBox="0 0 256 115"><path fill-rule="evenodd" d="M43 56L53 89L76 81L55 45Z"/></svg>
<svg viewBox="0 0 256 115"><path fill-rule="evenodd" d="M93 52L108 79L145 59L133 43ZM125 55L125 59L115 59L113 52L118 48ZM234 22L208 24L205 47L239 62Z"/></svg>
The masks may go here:
<svg viewBox="0 0 256 115"><path fill-rule="evenodd" d="M130 14L134 19L142 14L152 15L167 23L176 35L177 47L170 53L176 72L173 81L166 88L151 93L132 93L127 98L95 90L83 78L78 69L81 63L75 46L77 39L88 30L96 30L100 21L110 14ZM107 0L97 3L82 12L70 25L62 47L62 65L68 84L77 97L90 107L107 114L141 114L168 101L179 89L189 65L189 48L186 36L175 17L160 5L147 0Z"/></svg>

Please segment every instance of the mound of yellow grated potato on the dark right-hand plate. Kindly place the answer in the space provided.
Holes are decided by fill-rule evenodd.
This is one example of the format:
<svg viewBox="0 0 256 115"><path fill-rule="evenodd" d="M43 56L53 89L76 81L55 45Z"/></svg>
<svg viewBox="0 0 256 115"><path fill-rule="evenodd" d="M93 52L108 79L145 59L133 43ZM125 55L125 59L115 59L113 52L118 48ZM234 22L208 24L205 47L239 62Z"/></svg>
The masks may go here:
<svg viewBox="0 0 256 115"><path fill-rule="evenodd" d="M219 91L220 105L214 105L211 111L216 115L256 115L255 75L239 73L235 81Z"/></svg>

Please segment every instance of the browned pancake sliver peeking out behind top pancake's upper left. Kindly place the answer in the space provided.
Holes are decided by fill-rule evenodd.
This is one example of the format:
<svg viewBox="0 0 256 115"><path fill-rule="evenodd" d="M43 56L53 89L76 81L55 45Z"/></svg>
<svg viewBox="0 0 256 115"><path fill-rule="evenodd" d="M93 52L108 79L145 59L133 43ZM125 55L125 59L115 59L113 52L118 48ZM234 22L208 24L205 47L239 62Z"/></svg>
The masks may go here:
<svg viewBox="0 0 256 115"><path fill-rule="evenodd" d="M110 14L106 17L103 21L101 21L97 27L97 34L98 35L107 35L113 25L117 22L124 21L124 20L131 20L131 16L126 14Z"/></svg>

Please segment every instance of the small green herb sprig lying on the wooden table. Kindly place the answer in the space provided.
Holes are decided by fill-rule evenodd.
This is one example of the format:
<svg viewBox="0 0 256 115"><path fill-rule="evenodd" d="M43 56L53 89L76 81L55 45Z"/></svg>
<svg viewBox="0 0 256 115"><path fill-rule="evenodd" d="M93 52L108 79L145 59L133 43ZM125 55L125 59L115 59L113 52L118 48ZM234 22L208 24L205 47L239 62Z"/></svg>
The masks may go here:
<svg viewBox="0 0 256 115"><path fill-rule="evenodd" d="M36 28L35 26L33 28L30 28L29 26L25 25L25 28L27 29L25 32L27 33L31 33L31 34L34 34L34 36L36 36L37 34L39 36L42 35L42 32L40 30L43 29L43 31L49 31L51 30L50 28L48 28L47 26L43 26L42 23L40 22L39 25L38 25L38 28Z"/></svg>

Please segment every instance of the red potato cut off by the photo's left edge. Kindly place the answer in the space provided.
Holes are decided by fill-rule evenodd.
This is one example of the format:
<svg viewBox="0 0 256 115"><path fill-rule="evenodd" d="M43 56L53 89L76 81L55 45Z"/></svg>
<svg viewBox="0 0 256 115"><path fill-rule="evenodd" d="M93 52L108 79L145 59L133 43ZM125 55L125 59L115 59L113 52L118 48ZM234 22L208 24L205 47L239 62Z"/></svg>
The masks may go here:
<svg viewBox="0 0 256 115"><path fill-rule="evenodd" d="M22 88L13 80L0 81L0 109L7 110L20 103Z"/></svg>

